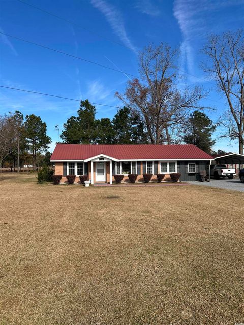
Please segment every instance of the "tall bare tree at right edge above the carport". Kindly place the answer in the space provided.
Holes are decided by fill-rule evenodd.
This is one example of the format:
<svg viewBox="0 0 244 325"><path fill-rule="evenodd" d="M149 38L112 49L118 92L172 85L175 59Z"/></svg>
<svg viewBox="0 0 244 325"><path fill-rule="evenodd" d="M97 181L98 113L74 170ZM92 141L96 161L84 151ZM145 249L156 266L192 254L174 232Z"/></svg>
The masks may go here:
<svg viewBox="0 0 244 325"><path fill-rule="evenodd" d="M225 128L223 137L238 139L239 153L244 145L244 38L243 31L211 35L203 49L208 60L203 69L217 89L225 96L228 109L223 110L219 123Z"/></svg>

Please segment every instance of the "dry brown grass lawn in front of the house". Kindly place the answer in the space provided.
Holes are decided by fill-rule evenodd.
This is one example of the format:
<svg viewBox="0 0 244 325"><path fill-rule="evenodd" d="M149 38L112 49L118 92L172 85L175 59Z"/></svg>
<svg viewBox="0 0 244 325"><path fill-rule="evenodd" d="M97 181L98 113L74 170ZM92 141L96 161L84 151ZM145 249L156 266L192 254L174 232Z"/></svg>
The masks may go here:
<svg viewBox="0 0 244 325"><path fill-rule="evenodd" d="M0 177L1 325L244 322L243 193Z"/></svg>

